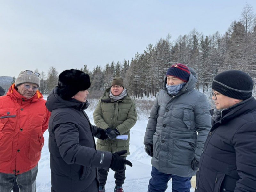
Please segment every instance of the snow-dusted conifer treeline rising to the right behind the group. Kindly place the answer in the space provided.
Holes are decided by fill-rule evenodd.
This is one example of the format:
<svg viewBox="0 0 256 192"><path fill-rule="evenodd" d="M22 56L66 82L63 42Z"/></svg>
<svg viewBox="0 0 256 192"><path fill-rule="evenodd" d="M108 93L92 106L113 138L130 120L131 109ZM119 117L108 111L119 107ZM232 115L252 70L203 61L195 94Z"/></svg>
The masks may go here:
<svg viewBox="0 0 256 192"><path fill-rule="evenodd" d="M168 34L155 46L149 44L144 53L136 53L132 60L107 63L89 71L87 65L80 70L91 78L90 90L103 91L114 77L122 77L129 94L134 97L153 97L163 87L167 69L174 63L192 67L197 75L196 89L206 92L213 77L220 71L238 69L256 78L256 17L247 4L239 21L234 21L225 34L218 31L204 35L193 29L189 34L172 40ZM57 84L58 72L51 67L48 74L41 72L40 91L49 93Z"/></svg>

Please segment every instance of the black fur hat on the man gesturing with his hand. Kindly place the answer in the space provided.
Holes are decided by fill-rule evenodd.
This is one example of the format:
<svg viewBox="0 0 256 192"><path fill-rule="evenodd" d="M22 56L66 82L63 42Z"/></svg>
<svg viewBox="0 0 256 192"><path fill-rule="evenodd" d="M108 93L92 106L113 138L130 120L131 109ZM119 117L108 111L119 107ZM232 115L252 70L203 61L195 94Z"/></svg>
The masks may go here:
<svg viewBox="0 0 256 192"><path fill-rule="evenodd" d="M65 70L59 75L57 94L62 99L69 100L79 91L87 90L90 85L88 74L76 69Z"/></svg>

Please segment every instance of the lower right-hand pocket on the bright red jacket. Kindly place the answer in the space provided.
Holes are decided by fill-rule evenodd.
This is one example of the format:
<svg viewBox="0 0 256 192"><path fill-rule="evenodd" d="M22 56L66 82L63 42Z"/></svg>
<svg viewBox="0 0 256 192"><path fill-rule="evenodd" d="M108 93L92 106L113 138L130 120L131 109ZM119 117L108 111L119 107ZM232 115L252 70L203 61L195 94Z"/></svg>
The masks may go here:
<svg viewBox="0 0 256 192"><path fill-rule="evenodd" d="M44 146L43 134L31 135L28 150L28 159L37 161L37 157L40 157L40 152Z"/></svg>

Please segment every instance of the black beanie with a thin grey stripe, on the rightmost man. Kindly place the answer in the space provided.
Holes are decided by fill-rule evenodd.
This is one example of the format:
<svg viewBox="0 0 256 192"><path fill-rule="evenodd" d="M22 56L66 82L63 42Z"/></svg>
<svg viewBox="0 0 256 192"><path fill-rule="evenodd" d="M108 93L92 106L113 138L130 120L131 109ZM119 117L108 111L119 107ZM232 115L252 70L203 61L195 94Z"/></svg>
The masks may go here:
<svg viewBox="0 0 256 192"><path fill-rule="evenodd" d="M224 71L215 76L212 89L234 99L248 99L252 96L253 80L239 70Z"/></svg>

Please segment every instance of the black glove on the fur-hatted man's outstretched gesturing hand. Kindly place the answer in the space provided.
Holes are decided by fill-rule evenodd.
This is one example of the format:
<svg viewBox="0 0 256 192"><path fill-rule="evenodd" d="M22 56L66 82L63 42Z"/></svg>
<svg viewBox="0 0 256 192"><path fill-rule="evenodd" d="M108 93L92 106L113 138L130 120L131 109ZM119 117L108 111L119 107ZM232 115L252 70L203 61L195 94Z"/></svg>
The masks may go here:
<svg viewBox="0 0 256 192"><path fill-rule="evenodd" d="M112 153L112 160L109 168L111 168L113 171L120 171L124 169L125 164L132 167L132 163L130 161L120 157L125 153L127 153L127 150L121 150L121 151Z"/></svg>

